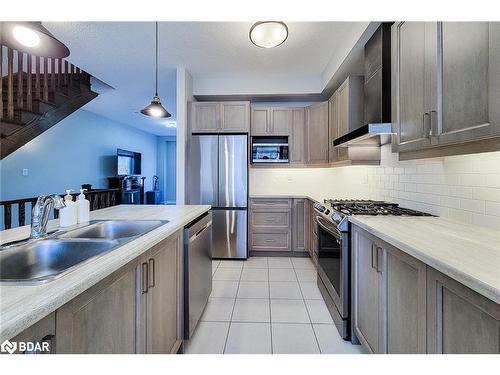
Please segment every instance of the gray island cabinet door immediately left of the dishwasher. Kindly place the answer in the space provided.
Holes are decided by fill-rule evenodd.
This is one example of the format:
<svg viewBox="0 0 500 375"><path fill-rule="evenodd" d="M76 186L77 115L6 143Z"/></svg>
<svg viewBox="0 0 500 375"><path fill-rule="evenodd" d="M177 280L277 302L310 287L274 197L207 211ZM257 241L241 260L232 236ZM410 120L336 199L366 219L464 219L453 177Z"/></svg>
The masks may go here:
<svg viewBox="0 0 500 375"><path fill-rule="evenodd" d="M174 354L180 347L182 236L160 242L148 263L147 353Z"/></svg>

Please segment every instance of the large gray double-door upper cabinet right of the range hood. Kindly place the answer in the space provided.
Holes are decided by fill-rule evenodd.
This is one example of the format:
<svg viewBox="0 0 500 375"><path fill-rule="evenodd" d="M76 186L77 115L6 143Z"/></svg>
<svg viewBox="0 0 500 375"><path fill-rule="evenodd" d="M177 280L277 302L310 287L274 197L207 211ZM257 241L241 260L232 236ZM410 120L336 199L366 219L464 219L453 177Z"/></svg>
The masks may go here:
<svg viewBox="0 0 500 375"><path fill-rule="evenodd" d="M499 23L396 22L391 69L393 151L500 136Z"/></svg>

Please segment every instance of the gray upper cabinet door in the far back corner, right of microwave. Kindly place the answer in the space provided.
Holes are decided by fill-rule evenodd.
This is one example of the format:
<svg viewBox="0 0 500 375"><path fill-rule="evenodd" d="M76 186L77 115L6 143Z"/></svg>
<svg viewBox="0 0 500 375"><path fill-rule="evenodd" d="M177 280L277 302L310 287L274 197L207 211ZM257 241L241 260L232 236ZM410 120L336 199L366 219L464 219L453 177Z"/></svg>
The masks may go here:
<svg viewBox="0 0 500 375"><path fill-rule="evenodd" d="M307 163L328 163L328 102L306 107Z"/></svg>

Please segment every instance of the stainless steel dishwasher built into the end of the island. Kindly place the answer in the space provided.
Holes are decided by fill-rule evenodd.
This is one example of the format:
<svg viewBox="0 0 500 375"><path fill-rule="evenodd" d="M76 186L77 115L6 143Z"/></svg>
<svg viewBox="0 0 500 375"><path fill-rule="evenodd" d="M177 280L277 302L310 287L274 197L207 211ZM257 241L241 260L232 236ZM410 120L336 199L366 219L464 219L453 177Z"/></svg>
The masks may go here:
<svg viewBox="0 0 500 375"><path fill-rule="evenodd" d="M184 228L184 339L189 340L212 292L212 214Z"/></svg>

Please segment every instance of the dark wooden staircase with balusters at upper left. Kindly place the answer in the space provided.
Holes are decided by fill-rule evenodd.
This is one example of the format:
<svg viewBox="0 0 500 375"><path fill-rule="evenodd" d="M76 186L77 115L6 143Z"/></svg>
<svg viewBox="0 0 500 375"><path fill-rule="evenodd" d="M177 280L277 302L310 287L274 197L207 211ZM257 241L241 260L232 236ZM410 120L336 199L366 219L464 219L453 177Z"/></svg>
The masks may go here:
<svg viewBox="0 0 500 375"><path fill-rule="evenodd" d="M0 61L0 159L97 96L90 74L64 59L0 45Z"/></svg>

